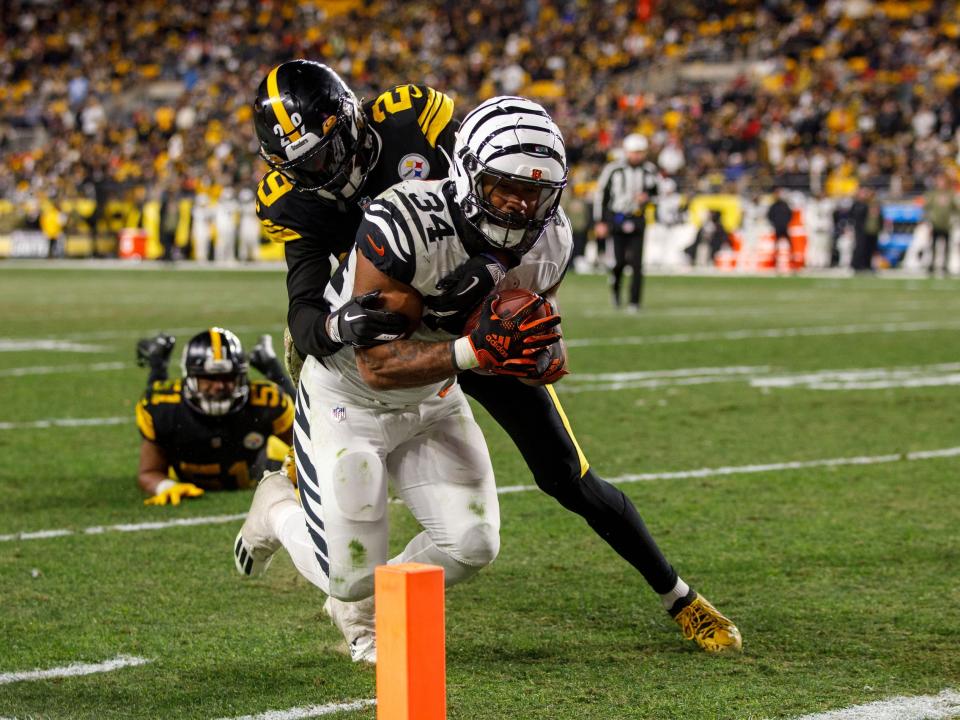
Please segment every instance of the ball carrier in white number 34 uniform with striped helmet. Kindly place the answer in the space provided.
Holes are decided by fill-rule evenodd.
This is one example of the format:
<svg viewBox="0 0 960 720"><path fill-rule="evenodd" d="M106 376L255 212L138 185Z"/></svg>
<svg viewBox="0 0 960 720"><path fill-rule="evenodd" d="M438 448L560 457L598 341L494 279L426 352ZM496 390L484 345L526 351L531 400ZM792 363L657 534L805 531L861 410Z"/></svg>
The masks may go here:
<svg viewBox="0 0 960 720"><path fill-rule="evenodd" d="M404 182L366 210L357 243L327 288L334 309L378 293L409 321L408 337L307 358L295 448L302 506L286 480L258 487L238 544L265 567L282 544L330 596L355 660L374 661L373 574L387 557L387 478L425 530L390 562L444 568L447 585L499 550L499 505L486 443L456 375L468 368L537 381L554 372L559 317L500 318L488 299L456 337L424 299L472 256L519 256L498 287L549 293L572 252L559 209L563 139L536 103L494 98L464 121L453 177ZM498 338L498 339L495 339Z"/></svg>

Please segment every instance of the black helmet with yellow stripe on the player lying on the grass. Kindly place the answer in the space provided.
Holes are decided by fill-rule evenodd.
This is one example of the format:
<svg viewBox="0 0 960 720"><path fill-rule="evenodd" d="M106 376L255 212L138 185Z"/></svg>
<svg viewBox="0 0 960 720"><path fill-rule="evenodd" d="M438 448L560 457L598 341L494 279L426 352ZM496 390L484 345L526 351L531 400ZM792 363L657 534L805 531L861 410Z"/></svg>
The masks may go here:
<svg viewBox="0 0 960 720"><path fill-rule="evenodd" d="M227 415L236 412L250 397L247 379L247 356L240 340L229 330L210 328L190 338L183 348L183 397L204 415ZM210 395L200 391L198 380L232 381L222 393Z"/></svg>

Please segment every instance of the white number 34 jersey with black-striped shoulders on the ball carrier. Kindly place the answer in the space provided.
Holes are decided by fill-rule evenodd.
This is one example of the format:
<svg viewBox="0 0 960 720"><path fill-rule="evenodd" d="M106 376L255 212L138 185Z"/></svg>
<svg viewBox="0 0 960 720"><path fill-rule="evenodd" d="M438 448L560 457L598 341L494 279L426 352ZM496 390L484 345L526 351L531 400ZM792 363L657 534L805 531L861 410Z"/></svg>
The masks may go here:
<svg viewBox="0 0 960 720"><path fill-rule="evenodd" d="M485 249L490 246L466 224L453 200L452 181L403 182L370 203L357 231L356 250L331 278L325 299L336 309L353 297L358 254L383 274L427 297L439 295L437 283ZM563 278L572 252L570 224L561 210L533 248L521 257L520 264L507 272L497 289L526 288L546 293ZM410 339L439 342L454 337L434 329L437 324L432 317L433 312L424 305L421 323ZM341 387L346 383L355 394L377 404L417 404L447 384L373 391L360 377L351 347L322 358L321 363L339 377Z"/></svg>

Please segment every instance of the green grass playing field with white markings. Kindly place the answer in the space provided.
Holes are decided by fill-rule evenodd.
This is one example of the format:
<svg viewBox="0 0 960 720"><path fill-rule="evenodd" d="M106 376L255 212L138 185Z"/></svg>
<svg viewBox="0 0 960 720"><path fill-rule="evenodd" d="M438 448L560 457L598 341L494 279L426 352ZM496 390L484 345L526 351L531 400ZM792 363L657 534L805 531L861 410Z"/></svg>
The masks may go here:
<svg viewBox="0 0 960 720"><path fill-rule="evenodd" d="M604 477L653 475L621 487L744 653L701 653L579 518L538 491L505 494L500 557L447 597L449 717L793 718L957 688L958 290L653 278L626 315L603 278L570 276L558 389L580 444ZM236 575L240 520L84 532L247 509L246 493L143 506L134 343L167 330L179 350L210 324L248 347L279 340L285 306L279 271L0 267L0 677L150 661L0 683L0 716L233 718L374 697L373 671L342 654L285 555L263 579ZM477 416L498 484L530 485ZM37 424L64 418L118 419ZM948 451L916 454L933 450ZM884 462L815 462L857 457ZM399 547L416 528L391 513ZM11 537L48 530L73 532Z"/></svg>

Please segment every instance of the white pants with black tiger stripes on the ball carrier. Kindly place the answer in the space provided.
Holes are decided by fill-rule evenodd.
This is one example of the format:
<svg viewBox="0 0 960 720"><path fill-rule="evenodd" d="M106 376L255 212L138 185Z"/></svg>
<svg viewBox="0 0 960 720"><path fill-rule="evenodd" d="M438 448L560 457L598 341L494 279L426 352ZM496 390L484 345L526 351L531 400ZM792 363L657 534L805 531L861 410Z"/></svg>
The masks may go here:
<svg viewBox="0 0 960 720"><path fill-rule="evenodd" d="M483 434L459 385L445 397L390 408L337 387L308 358L297 392L294 448L302 514L278 535L301 574L328 595L373 594L387 562L387 481L424 527L390 560L444 568L446 584L493 562L500 506Z"/></svg>

